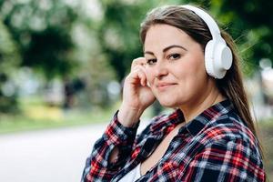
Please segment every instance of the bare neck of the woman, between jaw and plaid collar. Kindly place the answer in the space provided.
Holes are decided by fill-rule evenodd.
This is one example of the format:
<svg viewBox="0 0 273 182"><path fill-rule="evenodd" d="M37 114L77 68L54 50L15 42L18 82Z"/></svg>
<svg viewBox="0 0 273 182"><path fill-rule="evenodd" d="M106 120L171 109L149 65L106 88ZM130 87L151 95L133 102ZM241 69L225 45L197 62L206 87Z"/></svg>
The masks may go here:
<svg viewBox="0 0 273 182"><path fill-rule="evenodd" d="M189 122L201 114L208 107L213 106L225 99L225 96L221 95L217 87L213 86L211 89L207 90L204 95L198 96L198 98L188 102L186 105L179 106L179 108L183 112L185 121Z"/></svg>

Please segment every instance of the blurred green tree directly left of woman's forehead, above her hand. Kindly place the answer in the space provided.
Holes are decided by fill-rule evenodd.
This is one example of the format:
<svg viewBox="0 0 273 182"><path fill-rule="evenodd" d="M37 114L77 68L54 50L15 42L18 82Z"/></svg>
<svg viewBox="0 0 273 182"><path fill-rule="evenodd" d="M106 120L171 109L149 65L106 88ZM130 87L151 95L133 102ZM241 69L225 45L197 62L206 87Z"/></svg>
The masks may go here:
<svg viewBox="0 0 273 182"><path fill-rule="evenodd" d="M116 76L122 80L131 61L142 55L138 38L141 19L153 1L102 0L104 16L98 25L98 39L102 52L107 56Z"/></svg>

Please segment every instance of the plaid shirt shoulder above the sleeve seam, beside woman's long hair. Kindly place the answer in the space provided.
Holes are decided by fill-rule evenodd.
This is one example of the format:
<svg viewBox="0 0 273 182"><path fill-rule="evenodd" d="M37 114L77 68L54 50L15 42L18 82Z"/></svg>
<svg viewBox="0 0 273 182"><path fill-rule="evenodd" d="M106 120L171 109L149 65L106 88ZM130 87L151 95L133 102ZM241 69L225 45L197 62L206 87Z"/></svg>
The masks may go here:
<svg viewBox="0 0 273 182"><path fill-rule="evenodd" d="M207 138L206 147L218 146L228 150L242 150L261 160L257 137L235 112L210 121L201 135Z"/></svg>

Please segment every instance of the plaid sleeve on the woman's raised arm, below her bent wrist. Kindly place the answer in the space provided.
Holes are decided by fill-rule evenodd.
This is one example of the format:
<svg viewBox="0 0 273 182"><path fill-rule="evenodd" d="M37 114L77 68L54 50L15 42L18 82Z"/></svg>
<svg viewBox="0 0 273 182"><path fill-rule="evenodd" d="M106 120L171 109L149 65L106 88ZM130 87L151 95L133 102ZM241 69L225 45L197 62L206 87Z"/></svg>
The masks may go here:
<svg viewBox="0 0 273 182"><path fill-rule="evenodd" d="M96 141L90 157L86 159L81 182L110 181L130 157L137 127L122 126L116 112L103 136ZM114 163L110 163L109 157L115 147L118 147L118 157Z"/></svg>

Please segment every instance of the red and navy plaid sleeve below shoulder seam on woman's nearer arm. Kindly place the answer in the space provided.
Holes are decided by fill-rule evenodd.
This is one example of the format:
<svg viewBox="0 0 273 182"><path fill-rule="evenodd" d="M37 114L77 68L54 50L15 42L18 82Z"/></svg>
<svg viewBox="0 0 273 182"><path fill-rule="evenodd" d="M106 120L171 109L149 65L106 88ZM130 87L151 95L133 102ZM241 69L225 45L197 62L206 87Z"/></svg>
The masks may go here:
<svg viewBox="0 0 273 182"><path fill-rule="evenodd" d="M205 147L190 162L187 181L265 181L257 148L243 141L221 140Z"/></svg>

